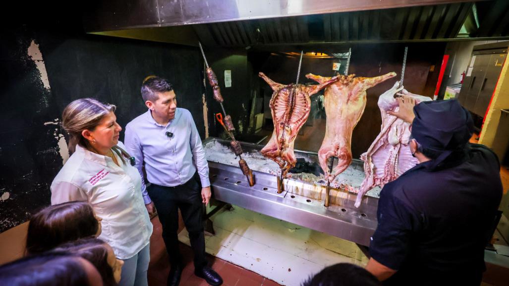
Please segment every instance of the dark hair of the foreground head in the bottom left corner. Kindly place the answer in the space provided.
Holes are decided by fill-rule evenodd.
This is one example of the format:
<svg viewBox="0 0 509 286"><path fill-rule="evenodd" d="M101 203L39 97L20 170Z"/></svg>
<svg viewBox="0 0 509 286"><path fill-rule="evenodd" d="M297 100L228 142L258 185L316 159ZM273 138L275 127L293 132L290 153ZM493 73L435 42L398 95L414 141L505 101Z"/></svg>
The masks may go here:
<svg viewBox="0 0 509 286"><path fill-rule="evenodd" d="M89 286L80 258L65 252L44 253L0 266L0 285Z"/></svg>

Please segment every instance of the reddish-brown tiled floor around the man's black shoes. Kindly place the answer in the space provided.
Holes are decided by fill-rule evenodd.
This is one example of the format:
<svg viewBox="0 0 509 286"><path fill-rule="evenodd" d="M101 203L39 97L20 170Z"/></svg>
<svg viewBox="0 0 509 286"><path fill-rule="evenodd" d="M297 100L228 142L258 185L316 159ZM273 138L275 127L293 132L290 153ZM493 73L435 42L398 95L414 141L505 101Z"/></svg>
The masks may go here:
<svg viewBox="0 0 509 286"><path fill-rule="evenodd" d="M149 286L166 286L169 264L168 254L161 237L161 223L158 217L152 219L154 233L150 239L150 266L149 266ZM180 224L182 225L182 223ZM192 263L192 250L189 246L181 243L180 251L184 256L185 268L182 271L180 285L182 286L206 286L205 280L194 275L194 266ZM240 268L234 264L209 255L209 262L212 268L223 278L225 286L277 286L278 283L266 279L257 273Z"/></svg>

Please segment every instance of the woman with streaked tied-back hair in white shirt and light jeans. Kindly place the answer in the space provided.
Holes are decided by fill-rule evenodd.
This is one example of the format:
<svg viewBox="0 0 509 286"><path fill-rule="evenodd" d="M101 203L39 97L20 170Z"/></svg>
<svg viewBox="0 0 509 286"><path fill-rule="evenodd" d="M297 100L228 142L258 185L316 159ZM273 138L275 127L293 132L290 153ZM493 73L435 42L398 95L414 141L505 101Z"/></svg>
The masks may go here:
<svg viewBox="0 0 509 286"><path fill-rule="evenodd" d="M120 286L147 286L152 223L133 159L119 141L115 105L91 98L71 102L62 114L73 153L51 184L51 204L89 202L102 218L100 239L124 261ZM132 164L132 165L131 165Z"/></svg>

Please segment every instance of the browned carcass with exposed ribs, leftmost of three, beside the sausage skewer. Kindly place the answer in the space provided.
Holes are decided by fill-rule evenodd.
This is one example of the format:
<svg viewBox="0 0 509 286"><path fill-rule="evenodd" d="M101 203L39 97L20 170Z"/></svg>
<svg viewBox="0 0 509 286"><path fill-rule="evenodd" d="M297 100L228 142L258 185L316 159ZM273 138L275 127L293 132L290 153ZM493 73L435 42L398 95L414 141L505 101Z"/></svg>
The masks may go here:
<svg viewBox="0 0 509 286"><path fill-rule="evenodd" d="M274 131L267 145L261 153L274 160L281 168L282 177L290 168L295 166L297 159L293 151L295 138L300 128L304 125L311 110L309 96L316 94L328 84L337 80L337 77L329 78L321 84L281 84L268 78L264 73L259 73L272 88L274 93L270 99L270 110Z"/></svg>

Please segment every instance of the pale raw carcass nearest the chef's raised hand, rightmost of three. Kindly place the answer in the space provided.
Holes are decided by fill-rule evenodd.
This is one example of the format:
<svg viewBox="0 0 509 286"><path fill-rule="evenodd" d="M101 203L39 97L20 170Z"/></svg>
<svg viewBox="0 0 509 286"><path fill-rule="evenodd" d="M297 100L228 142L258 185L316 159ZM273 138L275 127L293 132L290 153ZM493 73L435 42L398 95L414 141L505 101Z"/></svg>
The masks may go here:
<svg viewBox="0 0 509 286"><path fill-rule="evenodd" d="M398 111L399 104L394 95L400 91L403 95L414 98L416 103L428 101L431 98L409 93L403 87L398 88L399 84L399 81L394 83L394 86L378 99L382 128L367 152L360 156L360 159L364 161L365 178L357 193L356 208L360 206L362 197L367 191L376 186L383 187L419 163L410 151L411 124L388 115L387 111Z"/></svg>

